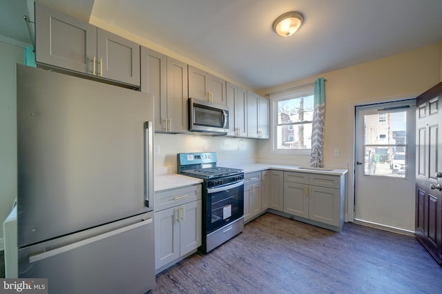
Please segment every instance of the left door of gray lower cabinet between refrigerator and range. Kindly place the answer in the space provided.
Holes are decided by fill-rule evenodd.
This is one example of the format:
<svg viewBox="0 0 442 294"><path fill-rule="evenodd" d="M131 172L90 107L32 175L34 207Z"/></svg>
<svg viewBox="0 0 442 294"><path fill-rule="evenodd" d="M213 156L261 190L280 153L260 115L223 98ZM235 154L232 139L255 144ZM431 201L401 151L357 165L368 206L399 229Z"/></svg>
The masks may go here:
<svg viewBox="0 0 442 294"><path fill-rule="evenodd" d="M179 206L155 213L155 270L180 257Z"/></svg>

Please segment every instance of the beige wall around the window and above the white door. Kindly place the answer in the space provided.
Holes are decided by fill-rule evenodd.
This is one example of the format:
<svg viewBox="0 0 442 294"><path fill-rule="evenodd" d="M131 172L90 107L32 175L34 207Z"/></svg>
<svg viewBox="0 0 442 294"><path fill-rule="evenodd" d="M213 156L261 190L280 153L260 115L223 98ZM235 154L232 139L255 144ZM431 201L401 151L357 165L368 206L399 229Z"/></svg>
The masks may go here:
<svg viewBox="0 0 442 294"><path fill-rule="evenodd" d="M442 42L357 66L325 72L290 84L260 91L261 95L284 88L307 84L325 77L324 163L329 167L348 168L353 148L352 106L375 101L416 97L441 81ZM268 141L258 141L258 159L306 161L304 156L270 153ZM340 155L334 156L334 149ZM308 162L308 160L307 160Z"/></svg>

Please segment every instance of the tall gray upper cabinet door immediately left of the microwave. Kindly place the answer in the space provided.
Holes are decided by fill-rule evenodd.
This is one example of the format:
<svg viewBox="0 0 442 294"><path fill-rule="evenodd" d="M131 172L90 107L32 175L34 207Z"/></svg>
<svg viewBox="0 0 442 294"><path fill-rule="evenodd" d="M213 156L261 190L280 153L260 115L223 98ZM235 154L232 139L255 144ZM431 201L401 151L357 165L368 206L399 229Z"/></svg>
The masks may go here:
<svg viewBox="0 0 442 294"><path fill-rule="evenodd" d="M187 121L187 64L167 57L167 117L169 132L186 133Z"/></svg>

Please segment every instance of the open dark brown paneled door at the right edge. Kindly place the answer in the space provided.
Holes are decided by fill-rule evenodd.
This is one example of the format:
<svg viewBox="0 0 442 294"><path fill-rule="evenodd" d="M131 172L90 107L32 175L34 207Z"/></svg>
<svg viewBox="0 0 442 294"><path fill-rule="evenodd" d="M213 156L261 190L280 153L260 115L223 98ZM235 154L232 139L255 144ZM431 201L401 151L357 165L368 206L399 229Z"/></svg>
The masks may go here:
<svg viewBox="0 0 442 294"><path fill-rule="evenodd" d="M416 230L442 262L442 83L416 99Z"/></svg>

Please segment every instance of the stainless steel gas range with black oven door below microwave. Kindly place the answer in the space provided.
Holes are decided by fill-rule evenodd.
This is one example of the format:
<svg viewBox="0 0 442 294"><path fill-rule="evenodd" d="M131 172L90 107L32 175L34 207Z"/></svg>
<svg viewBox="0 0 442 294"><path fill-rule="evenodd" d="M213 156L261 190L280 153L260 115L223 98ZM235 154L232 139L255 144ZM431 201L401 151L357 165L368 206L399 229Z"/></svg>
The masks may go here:
<svg viewBox="0 0 442 294"><path fill-rule="evenodd" d="M244 172L217 166L214 152L177 154L177 171L203 179L202 246L208 253L244 228Z"/></svg>

